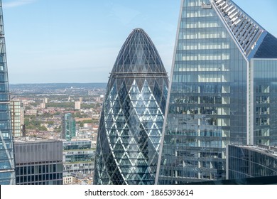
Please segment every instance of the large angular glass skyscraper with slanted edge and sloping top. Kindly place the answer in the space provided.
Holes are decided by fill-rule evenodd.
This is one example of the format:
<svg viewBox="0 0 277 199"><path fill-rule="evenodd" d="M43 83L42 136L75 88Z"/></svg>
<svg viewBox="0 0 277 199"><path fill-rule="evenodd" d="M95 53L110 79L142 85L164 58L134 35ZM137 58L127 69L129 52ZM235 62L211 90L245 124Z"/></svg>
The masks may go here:
<svg viewBox="0 0 277 199"><path fill-rule="evenodd" d="M159 177L226 178L228 144L277 144L277 39L229 0L183 0Z"/></svg>

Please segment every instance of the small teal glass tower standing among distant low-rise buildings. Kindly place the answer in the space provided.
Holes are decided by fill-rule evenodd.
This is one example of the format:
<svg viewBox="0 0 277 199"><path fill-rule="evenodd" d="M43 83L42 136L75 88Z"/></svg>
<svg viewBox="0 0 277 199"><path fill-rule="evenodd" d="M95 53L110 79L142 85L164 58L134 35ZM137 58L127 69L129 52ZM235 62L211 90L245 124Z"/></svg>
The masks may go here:
<svg viewBox="0 0 277 199"><path fill-rule="evenodd" d="M62 117L62 132L61 139L71 140L76 136L76 124L75 119L72 118L71 113L65 113Z"/></svg>

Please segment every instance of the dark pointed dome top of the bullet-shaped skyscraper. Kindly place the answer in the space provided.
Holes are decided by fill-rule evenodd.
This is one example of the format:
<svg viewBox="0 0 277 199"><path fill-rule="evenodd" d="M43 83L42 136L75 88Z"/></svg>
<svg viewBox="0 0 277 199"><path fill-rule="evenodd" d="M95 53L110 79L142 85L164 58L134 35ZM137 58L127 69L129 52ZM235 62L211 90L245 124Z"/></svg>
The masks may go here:
<svg viewBox="0 0 277 199"><path fill-rule="evenodd" d="M142 28L135 28L119 51L111 77L153 77L165 73L161 57L151 38Z"/></svg>

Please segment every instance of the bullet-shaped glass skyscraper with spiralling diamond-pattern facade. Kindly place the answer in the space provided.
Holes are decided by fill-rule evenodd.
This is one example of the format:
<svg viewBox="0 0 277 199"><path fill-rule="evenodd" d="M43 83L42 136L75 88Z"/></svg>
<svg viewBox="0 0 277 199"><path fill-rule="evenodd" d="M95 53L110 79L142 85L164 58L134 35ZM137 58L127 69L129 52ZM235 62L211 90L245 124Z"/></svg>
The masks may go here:
<svg viewBox="0 0 277 199"><path fill-rule="evenodd" d="M158 51L148 35L136 28L109 77L94 184L154 183L167 93L168 76Z"/></svg>

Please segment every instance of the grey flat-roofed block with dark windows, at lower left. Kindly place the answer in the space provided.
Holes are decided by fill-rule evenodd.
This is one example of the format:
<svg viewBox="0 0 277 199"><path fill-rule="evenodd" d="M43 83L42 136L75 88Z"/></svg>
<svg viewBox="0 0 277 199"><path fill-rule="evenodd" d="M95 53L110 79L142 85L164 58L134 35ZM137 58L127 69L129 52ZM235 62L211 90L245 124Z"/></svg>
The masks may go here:
<svg viewBox="0 0 277 199"><path fill-rule="evenodd" d="M14 142L17 185L62 185L63 142L16 138Z"/></svg>

